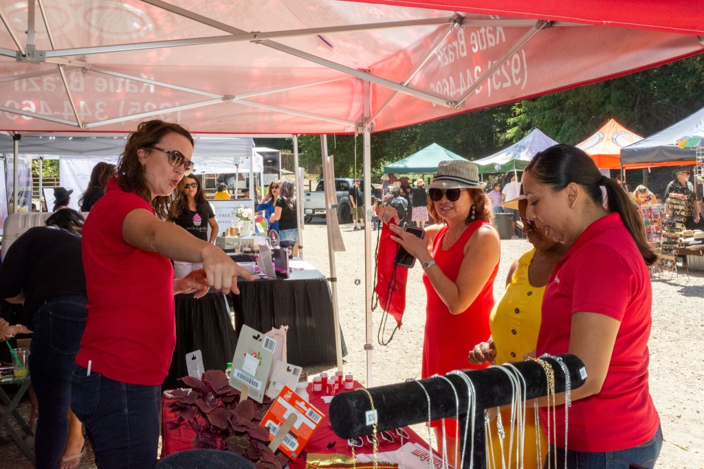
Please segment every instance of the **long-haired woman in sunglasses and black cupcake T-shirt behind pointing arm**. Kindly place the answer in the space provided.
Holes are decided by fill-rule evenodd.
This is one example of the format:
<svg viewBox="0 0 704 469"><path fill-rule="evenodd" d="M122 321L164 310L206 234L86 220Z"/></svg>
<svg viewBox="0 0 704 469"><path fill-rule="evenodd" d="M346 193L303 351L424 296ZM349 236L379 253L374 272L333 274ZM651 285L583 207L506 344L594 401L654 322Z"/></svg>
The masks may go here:
<svg viewBox="0 0 704 469"><path fill-rule="evenodd" d="M184 178L184 186L177 195L172 207L172 221L196 238L215 243L218 238L218 221L213 209L210 208L206 195L201 187L201 180L194 175ZM210 238L208 238L210 226ZM202 269L203 264L174 261L174 277L183 278L191 271Z"/></svg>

